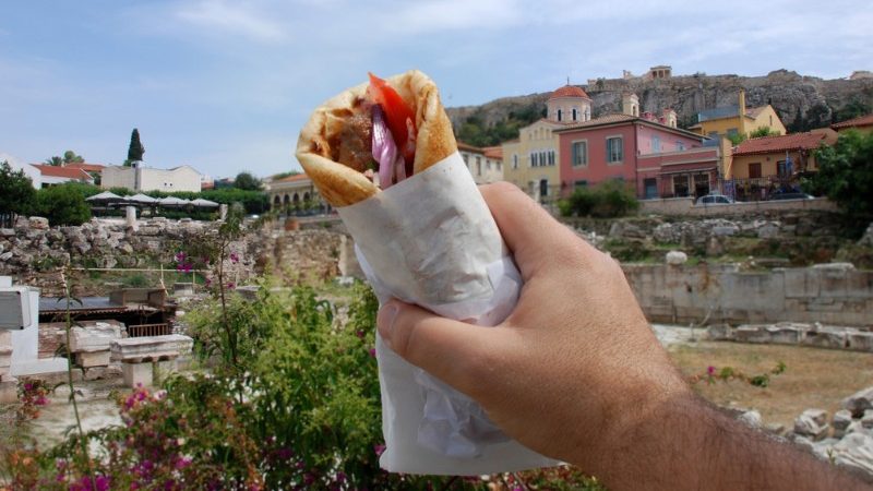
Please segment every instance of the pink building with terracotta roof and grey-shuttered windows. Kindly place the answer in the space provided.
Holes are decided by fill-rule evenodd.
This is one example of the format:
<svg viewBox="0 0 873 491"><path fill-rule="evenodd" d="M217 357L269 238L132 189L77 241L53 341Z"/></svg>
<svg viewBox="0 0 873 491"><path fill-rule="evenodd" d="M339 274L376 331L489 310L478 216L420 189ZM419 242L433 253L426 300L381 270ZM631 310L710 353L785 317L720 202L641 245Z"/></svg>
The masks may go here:
<svg viewBox="0 0 873 491"><path fill-rule="evenodd" d="M630 107L630 106L629 106ZM629 113L602 116L590 121L554 130L559 135L561 191L620 179L633 185L639 197L675 194L663 182L665 172L684 170L672 167L705 156L707 168L717 177L718 161L709 167L708 153L691 152L703 146L703 136L675 127L675 112L665 109L658 118L650 112L642 117ZM715 149L715 148L713 148ZM650 157L660 156L657 159ZM646 158L649 157L649 158ZM645 166L643 161L645 160ZM654 164L654 163L657 163ZM653 170L657 166L657 170ZM707 190L708 192L708 190Z"/></svg>

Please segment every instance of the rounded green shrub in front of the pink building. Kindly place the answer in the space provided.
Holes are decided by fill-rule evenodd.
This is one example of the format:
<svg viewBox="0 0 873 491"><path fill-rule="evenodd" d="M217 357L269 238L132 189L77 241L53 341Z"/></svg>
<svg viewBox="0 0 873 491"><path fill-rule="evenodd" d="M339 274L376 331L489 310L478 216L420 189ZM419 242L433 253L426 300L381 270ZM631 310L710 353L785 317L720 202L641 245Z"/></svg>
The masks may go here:
<svg viewBox="0 0 873 491"><path fill-rule="evenodd" d="M558 203L562 216L615 218L639 209L639 202L624 182L606 181L594 188L577 189Z"/></svg>

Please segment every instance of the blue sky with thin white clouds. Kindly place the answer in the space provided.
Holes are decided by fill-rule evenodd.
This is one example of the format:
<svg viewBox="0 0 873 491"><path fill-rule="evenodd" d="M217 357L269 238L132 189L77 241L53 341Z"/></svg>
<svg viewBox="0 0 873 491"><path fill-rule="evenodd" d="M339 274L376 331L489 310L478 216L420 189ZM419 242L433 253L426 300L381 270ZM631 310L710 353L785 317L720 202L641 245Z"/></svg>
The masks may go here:
<svg viewBox="0 0 873 491"><path fill-rule="evenodd" d="M33 0L0 2L0 153L72 149L214 178L299 169L310 112L411 68L445 106L645 73L824 79L873 70L869 0Z"/></svg>

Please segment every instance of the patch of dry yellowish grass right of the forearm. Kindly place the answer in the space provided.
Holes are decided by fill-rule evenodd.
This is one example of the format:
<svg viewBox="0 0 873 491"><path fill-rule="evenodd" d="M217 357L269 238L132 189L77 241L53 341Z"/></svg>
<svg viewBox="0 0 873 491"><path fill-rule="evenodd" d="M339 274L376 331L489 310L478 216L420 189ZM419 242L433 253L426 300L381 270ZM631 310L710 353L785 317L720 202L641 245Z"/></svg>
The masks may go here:
<svg viewBox="0 0 873 491"><path fill-rule="evenodd" d="M785 362L786 372L770 375L765 388L740 381L698 382L694 388L719 406L757 409L765 423L786 428L804 409L825 409L833 416L844 398L873 384L873 354L865 352L706 342L674 345L670 356L686 376L705 373L709 366L756 375Z"/></svg>

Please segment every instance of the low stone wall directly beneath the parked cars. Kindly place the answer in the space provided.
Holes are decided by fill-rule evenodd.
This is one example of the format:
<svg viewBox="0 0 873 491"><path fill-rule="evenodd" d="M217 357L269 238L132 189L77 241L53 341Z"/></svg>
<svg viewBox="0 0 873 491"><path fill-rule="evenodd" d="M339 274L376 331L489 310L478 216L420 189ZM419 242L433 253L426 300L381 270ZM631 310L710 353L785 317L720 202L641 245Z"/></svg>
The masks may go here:
<svg viewBox="0 0 873 491"><path fill-rule="evenodd" d="M683 216L725 216L761 212L822 211L836 212L837 205L825 197L814 200L750 201L720 205L695 205L693 197L642 200L641 213Z"/></svg>

